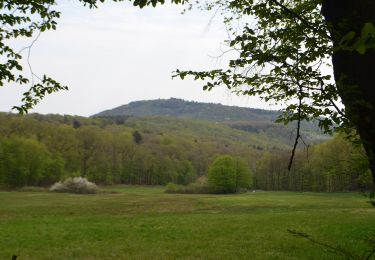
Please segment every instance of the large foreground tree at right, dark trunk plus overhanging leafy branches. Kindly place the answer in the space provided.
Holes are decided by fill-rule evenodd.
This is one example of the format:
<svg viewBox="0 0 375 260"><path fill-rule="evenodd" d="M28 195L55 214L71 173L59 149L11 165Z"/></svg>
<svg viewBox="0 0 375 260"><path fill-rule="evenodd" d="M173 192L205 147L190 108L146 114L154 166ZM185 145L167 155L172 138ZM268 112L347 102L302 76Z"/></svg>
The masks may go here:
<svg viewBox="0 0 375 260"><path fill-rule="evenodd" d="M286 104L278 121L297 121L289 169L301 121L317 120L325 132L354 128L375 184L375 1L212 0L203 8L222 11L228 51L238 56L227 70L177 70L175 76L206 80L205 90L224 85Z"/></svg>

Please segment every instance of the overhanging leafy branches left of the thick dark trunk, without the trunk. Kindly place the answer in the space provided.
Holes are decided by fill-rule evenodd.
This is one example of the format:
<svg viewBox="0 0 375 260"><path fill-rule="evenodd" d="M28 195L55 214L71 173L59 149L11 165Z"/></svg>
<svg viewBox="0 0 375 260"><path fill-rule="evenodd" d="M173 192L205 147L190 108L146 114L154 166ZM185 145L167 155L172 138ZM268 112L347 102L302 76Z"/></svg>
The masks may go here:
<svg viewBox="0 0 375 260"><path fill-rule="evenodd" d="M238 56L227 70L177 71L176 76L207 80L205 90L224 85L237 94L286 104L280 122L316 119L326 132L347 126L326 70L333 48L320 4L320 0L206 1L203 8L222 10L231 35L228 48Z"/></svg>

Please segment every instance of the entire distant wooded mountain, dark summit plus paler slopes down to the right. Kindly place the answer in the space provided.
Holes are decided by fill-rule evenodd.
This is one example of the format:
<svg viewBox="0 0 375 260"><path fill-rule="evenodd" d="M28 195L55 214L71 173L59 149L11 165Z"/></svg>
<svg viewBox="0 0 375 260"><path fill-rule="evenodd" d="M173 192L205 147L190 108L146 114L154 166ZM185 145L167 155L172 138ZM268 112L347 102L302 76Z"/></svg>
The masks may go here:
<svg viewBox="0 0 375 260"><path fill-rule="evenodd" d="M133 120L136 120L136 118L142 120L143 118L148 122L164 122L162 118L200 120L211 124L229 126L232 129L258 136L263 135L269 140L278 140L291 145L294 141L295 124L291 123L287 126L276 124L275 119L279 115L280 112L272 110L224 106L171 98L131 102L128 105L100 112L92 117L112 118L122 123L125 121L129 123L131 118ZM317 124L312 122L302 122L302 133L306 141L313 143L329 138L321 133Z"/></svg>

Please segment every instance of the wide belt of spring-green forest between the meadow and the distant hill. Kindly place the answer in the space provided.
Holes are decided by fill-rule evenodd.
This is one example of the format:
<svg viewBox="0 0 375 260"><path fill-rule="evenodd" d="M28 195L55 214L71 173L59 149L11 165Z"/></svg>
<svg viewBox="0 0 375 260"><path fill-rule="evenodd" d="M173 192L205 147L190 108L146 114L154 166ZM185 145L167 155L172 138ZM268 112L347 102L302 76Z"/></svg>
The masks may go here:
<svg viewBox="0 0 375 260"><path fill-rule="evenodd" d="M370 187L368 162L360 146L340 135L309 131L311 146L299 148L288 171L290 128L271 122L2 113L0 183L3 188L49 186L83 176L97 184L186 185L207 175L218 155L232 155L245 160L252 171L253 189Z"/></svg>

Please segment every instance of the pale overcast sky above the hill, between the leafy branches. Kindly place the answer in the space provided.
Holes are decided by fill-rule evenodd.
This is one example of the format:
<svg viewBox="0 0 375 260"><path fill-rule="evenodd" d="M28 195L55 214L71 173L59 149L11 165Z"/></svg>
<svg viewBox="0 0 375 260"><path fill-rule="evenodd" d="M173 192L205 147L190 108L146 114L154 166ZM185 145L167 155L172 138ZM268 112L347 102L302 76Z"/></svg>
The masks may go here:
<svg viewBox="0 0 375 260"><path fill-rule="evenodd" d="M90 10L61 1L56 31L43 33L31 51L33 71L69 91L47 96L30 112L90 116L138 100L181 98L231 106L274 109L259 98L224 87L202 90L202 81L173 79L173 71L225 68L226 30L220 16L164 5L139 9L106 3ZM14 42L21 49L31 39ZM24 54L25 55L25 54ZM25 72L27 69L25 68ZM19 104L25 87L0 88L0 111Z"/></svg>

